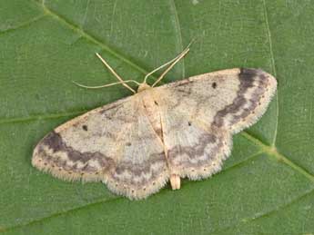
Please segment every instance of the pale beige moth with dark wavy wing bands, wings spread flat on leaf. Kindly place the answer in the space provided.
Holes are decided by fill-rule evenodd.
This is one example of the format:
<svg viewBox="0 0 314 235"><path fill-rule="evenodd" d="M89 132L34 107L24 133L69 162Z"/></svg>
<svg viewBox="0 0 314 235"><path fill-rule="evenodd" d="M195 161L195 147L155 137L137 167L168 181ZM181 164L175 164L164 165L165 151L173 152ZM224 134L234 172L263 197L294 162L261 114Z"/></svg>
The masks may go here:
<svg viewBox="0 0 314 235"><path fill-rule="evenodd" d="M124 81L96 54L134 95L48 133L35 147L33 166L63 180L102 181L131 200L147 198L167 181L177 190L181 178L201 180L220 171L232 135L265 113L277 81L260 69L234 68L156 87L188 51L152 71L168 66L151 86L151 73L143 83ZM137 91L127 83L137 83Z"/></svg>

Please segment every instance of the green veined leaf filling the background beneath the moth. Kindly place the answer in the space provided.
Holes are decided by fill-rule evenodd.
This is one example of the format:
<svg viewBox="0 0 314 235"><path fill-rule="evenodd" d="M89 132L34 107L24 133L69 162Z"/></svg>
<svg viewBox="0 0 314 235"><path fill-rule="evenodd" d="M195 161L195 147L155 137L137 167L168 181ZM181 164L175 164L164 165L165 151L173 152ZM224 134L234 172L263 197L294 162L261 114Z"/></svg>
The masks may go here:
<svg viewBox="0 0 314 235"><path fill-rule="evenodd" d="M251 234L314 230L314 5L310 0L0 2L0 231L8 234ZM47 132L130 95L71 81L144 74L196 39L164 83L232 67L279 81L263 118L234 137L223 171L145 201L31 166Z"/></svg>

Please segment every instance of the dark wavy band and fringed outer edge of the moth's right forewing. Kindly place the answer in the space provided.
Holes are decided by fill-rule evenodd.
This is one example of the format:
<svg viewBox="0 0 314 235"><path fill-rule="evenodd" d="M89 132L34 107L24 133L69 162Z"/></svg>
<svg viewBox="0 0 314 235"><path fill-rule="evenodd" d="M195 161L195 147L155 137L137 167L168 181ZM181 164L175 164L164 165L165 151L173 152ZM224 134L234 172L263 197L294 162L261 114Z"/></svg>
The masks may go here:
<svg viewBox="0 0 314 235"><path fill-rule="evenodd" d="M276 80L259 69L241 69L236 98L214 117L212 126L227 126L239 132L258 120L265 113L276 91Z"/></svg>

